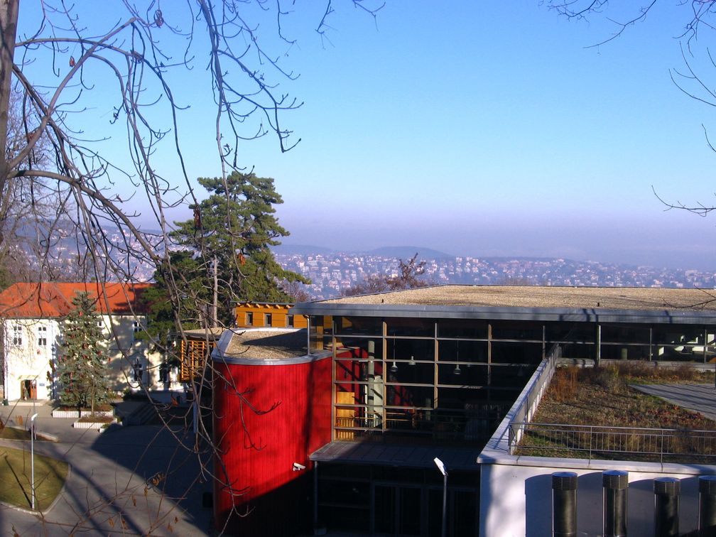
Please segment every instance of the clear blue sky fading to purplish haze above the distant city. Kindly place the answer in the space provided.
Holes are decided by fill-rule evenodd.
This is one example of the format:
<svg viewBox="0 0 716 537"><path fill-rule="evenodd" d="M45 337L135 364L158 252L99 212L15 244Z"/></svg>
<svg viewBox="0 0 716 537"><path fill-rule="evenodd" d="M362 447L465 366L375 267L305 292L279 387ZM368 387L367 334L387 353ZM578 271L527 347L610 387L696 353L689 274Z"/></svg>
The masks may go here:
<svg viewBox="0 0 716 537"><path fill-rule="evenodd" d="M271 138L242 148L284 197L285 243L716 270L716 215L664 212L652 193L716 203L702 129L716 140L715 110L669 77L684 64L675 37L688 6L657 4L589 47L614 31L605 16L567 21L537 0L387 0L377 28L334 0L322 46L319 4L297 2L286 26L299 46L282 61L301 76L282 87L305 104L284 125L301 143L286 154ZM700 35L697 54L710 38ZM180 79L192 178L221 170L208 87L185 83L203 64ZM178 169L170 158L161 166Z"/></svg>

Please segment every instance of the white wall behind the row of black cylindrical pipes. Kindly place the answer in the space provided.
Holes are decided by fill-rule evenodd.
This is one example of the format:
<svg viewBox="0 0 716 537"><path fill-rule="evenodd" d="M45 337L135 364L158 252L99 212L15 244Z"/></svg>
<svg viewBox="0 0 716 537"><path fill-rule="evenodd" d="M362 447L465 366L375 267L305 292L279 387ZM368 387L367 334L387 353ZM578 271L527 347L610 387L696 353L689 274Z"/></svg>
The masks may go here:
<svg viewBox="0 0 716 537"><path fill-rule="evenodd" d="M517 458L515 458L517 459ZM530 458L538 463L540 458ZM524 461L523 461L524 462ZM627 470L627 531L654 535L654 478L680 480L679 534L696 531L699 475L716 474L709 465L659 465L624 461L541 458L542 465L485 464L480 468L480 537L541 537L552 533L552 473L570 471L577 480L577 535L603 531L603 470ZM585 468L586 467L586 468ZM655 469L658 469L655 471Z"/></svg>

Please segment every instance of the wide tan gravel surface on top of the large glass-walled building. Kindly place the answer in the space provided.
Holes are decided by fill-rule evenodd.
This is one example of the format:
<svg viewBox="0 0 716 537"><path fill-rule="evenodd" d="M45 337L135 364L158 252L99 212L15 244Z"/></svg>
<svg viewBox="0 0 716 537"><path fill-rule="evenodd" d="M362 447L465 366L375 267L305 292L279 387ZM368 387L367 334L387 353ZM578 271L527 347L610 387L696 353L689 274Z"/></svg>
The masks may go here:
<svg viewBox="0 0 716 537"><path fill-rule="evenodd" d="M316 304L406 304L567 309L716 309L716 291L643 287L430 286Z"/></svg>

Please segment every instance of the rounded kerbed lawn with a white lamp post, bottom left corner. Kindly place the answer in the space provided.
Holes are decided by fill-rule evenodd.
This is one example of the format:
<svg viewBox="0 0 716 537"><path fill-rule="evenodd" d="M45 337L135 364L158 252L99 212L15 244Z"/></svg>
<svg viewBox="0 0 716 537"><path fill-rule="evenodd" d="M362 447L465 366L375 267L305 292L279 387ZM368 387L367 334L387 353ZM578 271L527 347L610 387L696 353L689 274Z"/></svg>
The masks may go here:
<svg viewBox="0 0 716 537"><path fill-rule="evenodd" d="M29 509L32 506L32 461L29 450L0 448L0 500ZM35 508L44 511L52 504L64 480L67 463L35 453Z"/></svg>

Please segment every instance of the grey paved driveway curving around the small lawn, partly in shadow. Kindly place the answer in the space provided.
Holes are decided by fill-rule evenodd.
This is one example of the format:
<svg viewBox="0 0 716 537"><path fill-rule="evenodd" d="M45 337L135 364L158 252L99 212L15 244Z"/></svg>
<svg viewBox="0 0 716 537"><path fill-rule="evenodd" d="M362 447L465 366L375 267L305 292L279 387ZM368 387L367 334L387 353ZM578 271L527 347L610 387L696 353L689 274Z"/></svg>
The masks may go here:
<svg viewBox="0 0 716 537"><path fill-rule="evenodd" d="M211 490L206 461L185 449L193 437L159 425L121 427L102 434L72 428L72 419L52 418L47 405L0 407L9 424L37 412L37 431L59 442L35 442L37 453L65 460L69 478L57 501L40 515L0 505L0 535L211 535ZM10 414L12 412L12 415ZM30 449L30 442L0 440ZM208 470L202 473L202 466ZM203 479L202 479L203 477Z"/></svg>

